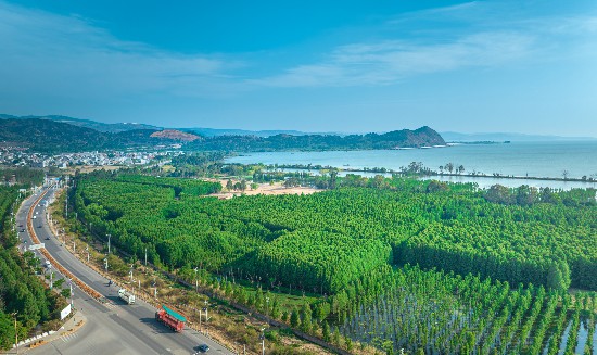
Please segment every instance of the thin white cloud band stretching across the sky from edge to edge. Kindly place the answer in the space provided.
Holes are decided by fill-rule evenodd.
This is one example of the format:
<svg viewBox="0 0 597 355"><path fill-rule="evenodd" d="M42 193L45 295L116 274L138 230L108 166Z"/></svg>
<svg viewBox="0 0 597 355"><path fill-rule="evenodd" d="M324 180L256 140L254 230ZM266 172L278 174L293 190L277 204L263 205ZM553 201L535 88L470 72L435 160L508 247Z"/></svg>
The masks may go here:
<svg viewBox="0 0 597 355"><path fill-rule="evenodd" d="M167 101L180 97L230 97L241 91L277 87L383 86L418 75L493 68L564 55L564 49L569 49L566 46L571 46L567 42L585 47L585 51L576 55L597 48L588 46L595 39L587 39L597 38L594 36L596 17L517 21L507 20L506 15L487 16L484 7L484 2L470 2L403 14L380 27L388 30L389 26L402 26L405 22L424 24L425 18L444 17L469 21L470 26L455 30L443 25L432 28L408 25L410 29L429 33L410 36L398 31L386 36L388 33L382 31L384 36L377 40L332 47L322 54L310 53L321 60L292 67L284 67L283 61L263 64L268 53L252 56L249 53L244 58L253 59L254 73L271 71L271 74L245 79L251 75L249 64L237 60L243 55L168 52L115 38L86 18L25 9L0 0L0 79L3 84L0 105L16 107L60 99L64 107L68 100L101 102L115 98L130 98L128 103L132 105L139 98L160 97ZM484 23L488 17L493 18L491 24ZM498 22L496 17L504 21ZM265 55L257 56L262 54ZM282 58L292 56L292 50L284 49Z"/></svg>

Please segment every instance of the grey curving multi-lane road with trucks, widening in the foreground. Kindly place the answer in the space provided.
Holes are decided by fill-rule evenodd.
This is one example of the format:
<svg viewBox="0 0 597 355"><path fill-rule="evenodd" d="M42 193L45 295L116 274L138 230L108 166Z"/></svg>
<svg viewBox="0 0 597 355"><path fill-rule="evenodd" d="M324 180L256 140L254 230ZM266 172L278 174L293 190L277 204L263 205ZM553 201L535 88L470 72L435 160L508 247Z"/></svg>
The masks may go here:
<svg viewBox="0 0 597 355"><path fill-rule="evenodd" d="M49 189L43 200L54 193ZM21 240L25 245L31 244L31 238L26 228L27 212L39 196L34 195L21 206L16 224ZM105 296L109 302L101 304L74 288L74 306L88 319L87 324L76 333L56 340L51 344L28 351L28 354L193 354L200 344L207 344L209 353L233 354L220 344L185 328L182 333L175 333L155 320L155 308L141 300L134 305L127 305L118 299L118 288L107 287L105 278L89 268L72 255L52 234L46 220L46 208L35 207L33 227L46 250L62 266L73 272L89 287ZM25 231L21 232L24 228ZM37 253L42 259L43 255Z"/></svg>

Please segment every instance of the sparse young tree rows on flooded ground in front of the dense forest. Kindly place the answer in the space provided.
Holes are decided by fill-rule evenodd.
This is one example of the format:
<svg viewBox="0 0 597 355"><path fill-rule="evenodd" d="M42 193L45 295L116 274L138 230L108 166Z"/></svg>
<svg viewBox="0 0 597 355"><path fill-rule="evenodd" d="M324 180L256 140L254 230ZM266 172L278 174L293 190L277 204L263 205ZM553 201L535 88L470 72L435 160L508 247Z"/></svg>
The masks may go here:
<svg viewBox="0 0 597 355"><path fill-rule="evenodd" d="M329 297L284 304L288 289L218 278L178 276L220 299L253 308L350 352L372 345L398 354L594 354L597 293L512 289L478 276L382 266ZM263 287L263 288L262 288Z"/></svg>

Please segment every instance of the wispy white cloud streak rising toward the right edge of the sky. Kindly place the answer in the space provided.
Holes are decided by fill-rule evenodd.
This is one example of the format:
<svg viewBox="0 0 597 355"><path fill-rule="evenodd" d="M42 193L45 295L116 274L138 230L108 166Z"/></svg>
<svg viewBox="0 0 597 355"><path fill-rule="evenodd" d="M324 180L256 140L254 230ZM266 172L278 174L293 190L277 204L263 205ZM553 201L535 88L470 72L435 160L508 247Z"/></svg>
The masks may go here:
<svg viewBox="0 0 597 355"><path fill-rule="evenodd" d="M253 83L266 87L379 86L423 74L564 61L596 51L592 50L597 48L595 16L523 18L510 12L511 4L473 1L401 14L380 25L385 40L339 46L318 62Z"/></svg>

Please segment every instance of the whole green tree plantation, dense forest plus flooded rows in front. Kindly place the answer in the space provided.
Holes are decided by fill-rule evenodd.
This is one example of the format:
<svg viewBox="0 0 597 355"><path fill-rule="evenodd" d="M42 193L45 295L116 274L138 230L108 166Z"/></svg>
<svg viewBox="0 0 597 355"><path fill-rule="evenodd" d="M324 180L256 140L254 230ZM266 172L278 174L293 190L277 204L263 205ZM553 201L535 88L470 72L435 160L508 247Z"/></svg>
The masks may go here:
<svg viewBox="0 0 597 355"><path fill-rule="evenodd" d="M72 200L86 228L157 266L321 295L290 322L345 348L590 350L594 190L333 179L308 195L218 200L219 182L99 173L79 176Z"/></svg>

